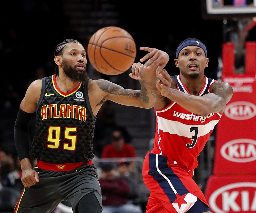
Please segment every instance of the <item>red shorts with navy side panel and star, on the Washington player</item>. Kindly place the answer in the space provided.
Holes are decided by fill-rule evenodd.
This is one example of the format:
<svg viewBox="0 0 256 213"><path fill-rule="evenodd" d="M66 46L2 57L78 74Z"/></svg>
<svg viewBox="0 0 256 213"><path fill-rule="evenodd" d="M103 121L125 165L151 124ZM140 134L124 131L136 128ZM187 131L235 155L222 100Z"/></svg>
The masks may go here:
<svg viewBox="0 0 256 213"><path fill-rule="evenodd" d="M185 213L197 201L203 210L199 211L198 206L195 212L211 211L191 175L165 156L147 153L143 163L143 180L151 192L147 213Z"/></svg>

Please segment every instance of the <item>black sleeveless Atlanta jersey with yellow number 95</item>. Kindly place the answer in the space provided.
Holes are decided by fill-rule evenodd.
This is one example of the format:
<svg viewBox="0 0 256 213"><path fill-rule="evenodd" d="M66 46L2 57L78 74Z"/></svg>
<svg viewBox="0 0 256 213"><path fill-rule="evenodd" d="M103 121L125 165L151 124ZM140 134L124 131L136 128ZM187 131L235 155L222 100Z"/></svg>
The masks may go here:
<svg viewBox="0 0 256 213"><path fill-rule="evenodd" d="M43 78L36 108L36 132L31 154L46 163L87 163L94 155L96 117L88 97L88 82L61 92L55 75Z"/></svg>

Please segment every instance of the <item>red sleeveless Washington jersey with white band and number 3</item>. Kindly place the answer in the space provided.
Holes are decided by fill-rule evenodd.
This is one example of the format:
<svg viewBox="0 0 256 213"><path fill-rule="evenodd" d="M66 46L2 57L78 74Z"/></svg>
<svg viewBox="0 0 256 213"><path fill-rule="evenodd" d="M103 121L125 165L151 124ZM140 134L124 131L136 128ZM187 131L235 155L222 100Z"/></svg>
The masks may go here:
<svg viewBox="0 0 256 213"><path fill-rule="evenodd" d="M176 80L179 91L190 94L181 82L180 75L172 77ZM210 93L211 84L214 82L216 80L205 76L204 86L199 96ZM222 114L197 115L173 101L163 109L154 110L156 113L156 135L151 152L168 157L169 160L173 160L173 164L184 167L193 175L193 170L198 165L197 157Z"/></svg>

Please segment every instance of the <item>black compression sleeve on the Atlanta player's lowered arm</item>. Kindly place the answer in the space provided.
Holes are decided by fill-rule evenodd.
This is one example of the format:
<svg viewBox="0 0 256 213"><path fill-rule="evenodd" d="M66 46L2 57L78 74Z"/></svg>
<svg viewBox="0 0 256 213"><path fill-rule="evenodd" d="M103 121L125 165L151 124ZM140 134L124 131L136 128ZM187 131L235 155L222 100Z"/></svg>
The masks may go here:
<svg viewBox="0 0 256 213"><path fill-rule="evenodd" d="M20 160L29 156L29 123L34 113L26 113L19 107L14 125L14 141Z"/></svg>

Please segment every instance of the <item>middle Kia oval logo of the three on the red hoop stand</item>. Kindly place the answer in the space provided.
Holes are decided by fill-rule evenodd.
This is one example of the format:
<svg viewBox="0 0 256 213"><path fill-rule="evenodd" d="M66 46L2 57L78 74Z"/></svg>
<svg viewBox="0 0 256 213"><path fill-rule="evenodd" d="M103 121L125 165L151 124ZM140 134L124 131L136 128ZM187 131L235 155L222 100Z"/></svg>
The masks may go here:
<svg viewBox="0 0 256 213"><path fill-rule="evenodd" d="M220 148L223 158L238 163L256 160L256 141L248 138L239 138L224 143Z"/></svg>

